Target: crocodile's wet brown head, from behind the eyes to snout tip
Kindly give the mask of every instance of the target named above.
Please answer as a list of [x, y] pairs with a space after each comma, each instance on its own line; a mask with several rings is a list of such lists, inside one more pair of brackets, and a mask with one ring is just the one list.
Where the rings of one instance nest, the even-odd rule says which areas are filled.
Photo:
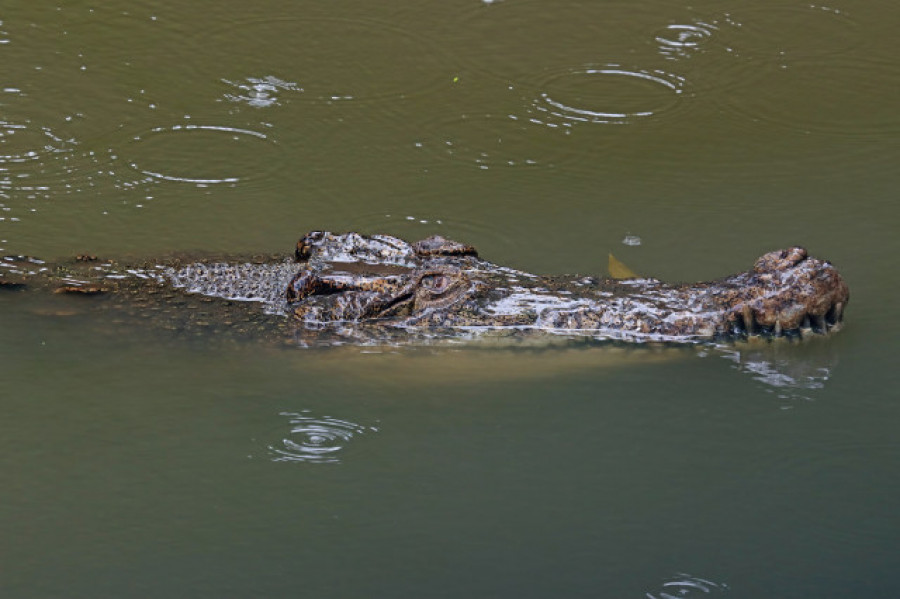
[[655, 279], [538, 277], [478, 258], [443, 237], [313, 232], [297, 244], [301, 270], [289, 312], [307, 324], [516, 328], [660, 339], [799, 337], [836, 330], [849, 292], [834, 267], [793, 247], [746, 272], [671, 285]]

